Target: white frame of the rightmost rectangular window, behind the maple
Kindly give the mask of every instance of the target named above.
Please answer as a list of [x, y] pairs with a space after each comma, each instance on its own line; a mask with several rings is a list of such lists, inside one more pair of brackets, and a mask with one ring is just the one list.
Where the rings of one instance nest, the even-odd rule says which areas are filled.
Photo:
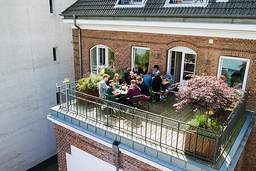
[[246, 61], [245, 75], [243, 76], [243, 86], [242, 86], [242, 90], [245, 90], [247, 76], [248, 76], [248, 72], [249, 72], [249, 66], [250, 66], [250, 59], [245, 59], [242, 57], [220, 56], [220, 59], [218, 60], [218, 72], [217, 72], [218, 78], [220, 78], [220, 76], [221, 76], [221, 70], [222, 70], [222, 65], [223, 65], [224, 59]]

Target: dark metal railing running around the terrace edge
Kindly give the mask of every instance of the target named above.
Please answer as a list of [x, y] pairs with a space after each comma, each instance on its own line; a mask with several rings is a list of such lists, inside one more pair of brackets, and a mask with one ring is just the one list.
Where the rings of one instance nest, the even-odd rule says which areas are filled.
[[[152, 112], [80, 93], [77, 91], [76, 84], [77, 82], [71, 82], [57, 86], [61, 109], [75, 112], [77, 115], [131, 136], [172, 148], [176, 152], [185, 152], [208, 161], [215, 161], [220, 155], [238, 123], [237, 119], [241, 118], [246, 104], [246, 101], [241, 103], [230, 114], [228, 122], [224, 123], [221, 131], [214, 132]], [[187, 130], [188, 127], [195, 131]], [[204, 135], [201, 135], [202, 132]]]

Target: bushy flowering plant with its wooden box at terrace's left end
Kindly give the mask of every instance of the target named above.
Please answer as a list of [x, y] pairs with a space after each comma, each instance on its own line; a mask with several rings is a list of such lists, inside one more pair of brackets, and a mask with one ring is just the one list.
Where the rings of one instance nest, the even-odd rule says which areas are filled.
[[[101, 80], [102, 77], [98, 74], [90, 74], [87, 78], [81, 78], [77, 84], [77, 91], [98, 97], [98, 85]], [[85, 98], [85, 95], [77, 94], [77, 97]], [[88, 100], [92, 101], [93, 99], [89, 98]], [[78, 102], [82, 103], [80, 100]]]

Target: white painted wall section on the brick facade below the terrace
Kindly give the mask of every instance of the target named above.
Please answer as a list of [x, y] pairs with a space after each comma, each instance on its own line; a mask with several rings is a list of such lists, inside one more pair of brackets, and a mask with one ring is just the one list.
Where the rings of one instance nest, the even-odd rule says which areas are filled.
[[[66, 153], [68, 171], [114, 171], [117, 168], [106, 161], [98, 159], [89, 153], [71, 145], [71, 155]], [[122, 169], [119, 169], [123, 171]]]

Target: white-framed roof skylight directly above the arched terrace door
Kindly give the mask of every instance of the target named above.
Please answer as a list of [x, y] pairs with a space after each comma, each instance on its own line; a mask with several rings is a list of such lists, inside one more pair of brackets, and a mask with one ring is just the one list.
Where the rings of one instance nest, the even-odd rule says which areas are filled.
[[164, 7], [183, 7], [183, 6], [199, 6], [205, 7], [208, 0], [167, 0]]

